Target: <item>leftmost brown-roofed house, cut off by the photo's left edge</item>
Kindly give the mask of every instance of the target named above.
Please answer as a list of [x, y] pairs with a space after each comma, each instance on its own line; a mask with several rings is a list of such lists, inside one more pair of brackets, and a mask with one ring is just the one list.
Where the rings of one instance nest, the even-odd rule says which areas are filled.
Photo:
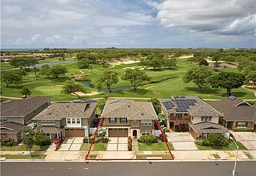
[[11, 138], [21, 141], [21, 130], [31, 122], [38, 113], [50, 105], [50, 97], [29, 97], [10, 99], [1, 102], [0, 133], [1, 139]]

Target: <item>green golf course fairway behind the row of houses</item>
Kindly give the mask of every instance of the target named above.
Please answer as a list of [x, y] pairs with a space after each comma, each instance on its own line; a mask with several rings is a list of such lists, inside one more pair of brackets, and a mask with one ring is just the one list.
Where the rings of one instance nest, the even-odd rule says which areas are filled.
[[[66, 60], [72, 60], [72, 57], [66, 57]], [[46, 62], [58, 62], [58, 58], [47, 58], [40, 61], [40, 63]], [[225, 89], [212, 89], [206, 88], [205, 90], [199, 90], [194, 83], [184, 83], [183, 75], [186, 70], [190, 69], [194, 64], [191, 64], [187, 59], [180, 58], [177, 62], [178, 68], [176, 70], [145, 70], [152, 81], [158, 83], [147, 83], [144, 86], [138, 87], [138, 90], [118, 90], [112, 93], [102, 92], [91, 87], [86, 87], [86, 93], [90, 93], [91, 90], [99, 91], [101, 94], [91, 95], [83, 98], [103, 98], [105, 95], [108, 97], [130, 97], [130, 98], [168, 98], [174, 95], [194, 95], [200, 98], [207, 99], [221, 99], [226, 97]], [[120, 86], [130, 86], [130, 82], [122, 80], [122, 74], [128, 68], [134, 68], [138, 66], [138, 63], [133, 64], [122, 64], [117, 66], [103, 67], [102, 65], [94, 65], [92, 73], [90, 70], [78, 69], [77, 63], [64, 63], [62, 66], [66, 66], [69, 72], [58, 79], [46, 78], [40, 76], [38, 80], [35, 80], [34, 73], [27, 74], [22, 81], [22, 85], [11, 85], [9, 88], [6, 87], [6, 82], [1, 79], [1, 90], [2, 96], [7, 97], [18, 97], [21, 98], [20, 90], [22, 86], [30, 88], [32, 95], [48, 95], [51, 97], [53, 102], [66, 101], [77, 98], [71, 94], [64, 94], [62, 87], [64, 82], [75, 75], [81, 75], [82, 80], [88, 80], [96, 85], [97, 79], [102, 75], [105, 70], [113, 70], [118, 73], [119, 82], [113, 86], [113, 88]], [[1, 72], [13, 69], [9, 63], [1, 64]], [[237, 69], [227, 69], [226, 71], [238, 71]], [[239, 98], [254, 99], [254, 93], [250, 90], [243, 88], [234, 89], [231, 94]]]

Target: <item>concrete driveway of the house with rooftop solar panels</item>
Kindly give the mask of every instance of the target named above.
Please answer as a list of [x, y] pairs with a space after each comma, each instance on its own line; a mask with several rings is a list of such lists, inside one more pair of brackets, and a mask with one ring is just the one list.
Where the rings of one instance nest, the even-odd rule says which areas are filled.
[[166, 133], [168, 142], [174, 146], [174, 150], [198, 150], [194, 144], [194, 138], [189, 132]]

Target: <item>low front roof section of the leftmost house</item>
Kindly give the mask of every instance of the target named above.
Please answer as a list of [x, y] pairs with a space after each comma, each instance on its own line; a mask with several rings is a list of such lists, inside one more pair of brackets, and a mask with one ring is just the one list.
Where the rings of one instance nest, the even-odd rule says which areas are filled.
[[18, 134], [25, 127], [15, 122], [4, 122], [0, 125], [0, 134]]

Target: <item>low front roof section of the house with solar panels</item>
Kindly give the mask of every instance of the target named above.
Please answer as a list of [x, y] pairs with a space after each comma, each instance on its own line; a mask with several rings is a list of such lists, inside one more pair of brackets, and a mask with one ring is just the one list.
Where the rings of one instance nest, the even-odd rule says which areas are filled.
[[213, 122], [199, 122], [195, 124], [189, 122], [189, 125], [196, 133], [225, 133], [228, 131], [224, 126]]

